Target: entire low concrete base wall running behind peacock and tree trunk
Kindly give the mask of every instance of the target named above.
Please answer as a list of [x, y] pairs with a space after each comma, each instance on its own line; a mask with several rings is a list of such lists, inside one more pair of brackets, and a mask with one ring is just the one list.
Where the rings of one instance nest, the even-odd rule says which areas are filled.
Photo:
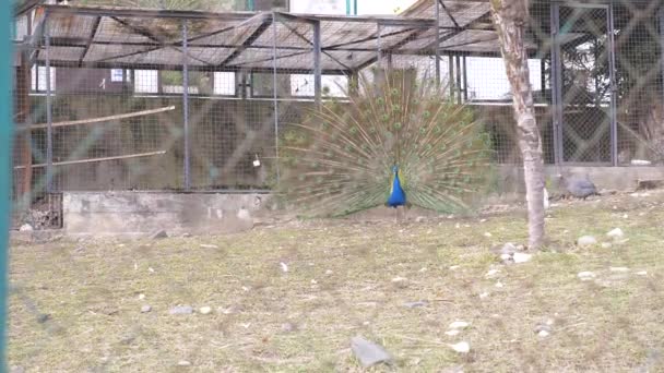
[[[602, 190], [633, 191], [639, 180], [664, 180], [664, 167], [546, 167], [550, 192], [557, 191], [558, 173], [588, 175]], [[523, 168], [501, 166], [497, 191], [486, 204], [522, 201]], [[66, 192], [63, 224], [68, 234], [146, 236], [163, 229], [168, 233], [227, 233], [250, 229], [249, 216], [268, 213], [270, 195], [247, 193], [173, 192]], [[244, 210], [242, 214], [238, 213]], [[393, 217], [394, 212], [378, 208], [371, 214]], [[427, 215], [414, 212], [411, 215]], [[368, 215], [367, 215], [368, 214]], [[436, 215], [436, 214], [434, 214]]]

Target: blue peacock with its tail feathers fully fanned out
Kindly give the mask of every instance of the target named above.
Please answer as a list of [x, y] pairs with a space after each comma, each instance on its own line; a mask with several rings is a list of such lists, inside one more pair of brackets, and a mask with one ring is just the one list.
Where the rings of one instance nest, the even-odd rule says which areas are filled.
[[349, 80], [280, 136], [278, 194], [309, 216], [381, 205], [469, 210], [490, 171], [490, 142], [467, 105], [415, 69]]

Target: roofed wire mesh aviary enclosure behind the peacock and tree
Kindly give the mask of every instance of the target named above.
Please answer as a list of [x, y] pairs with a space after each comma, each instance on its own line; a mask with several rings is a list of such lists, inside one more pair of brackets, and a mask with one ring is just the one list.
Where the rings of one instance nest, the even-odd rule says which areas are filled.
[[[636, 3], [532, 2], [546, 163], [663, 159], [664, 8]], [[280, 130], [343, 105], [348, 81], [376, 68], [440, 81], [489, 131], [493, 160], [520, 160], [487, 1], [422, 0], [399, 16], [28, 1], [15, 21], [16, 225], [31, 206], [57, 210], [62, 191], [266, 191]]]

